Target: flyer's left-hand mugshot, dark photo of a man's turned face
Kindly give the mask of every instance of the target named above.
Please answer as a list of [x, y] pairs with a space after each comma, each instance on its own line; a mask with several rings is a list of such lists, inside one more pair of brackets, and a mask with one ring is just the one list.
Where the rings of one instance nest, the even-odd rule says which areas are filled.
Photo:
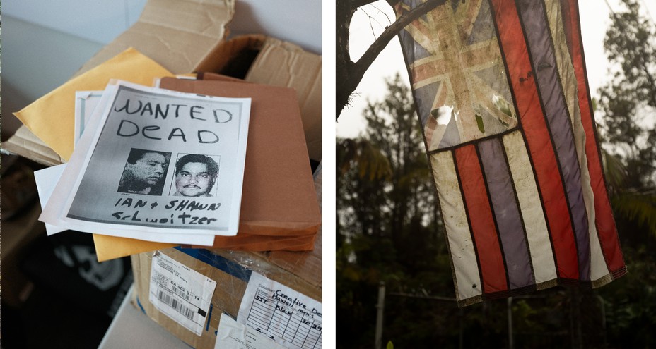
[[130, 149], [118, 192], [142, 195], [162, 195], [170, 152]]

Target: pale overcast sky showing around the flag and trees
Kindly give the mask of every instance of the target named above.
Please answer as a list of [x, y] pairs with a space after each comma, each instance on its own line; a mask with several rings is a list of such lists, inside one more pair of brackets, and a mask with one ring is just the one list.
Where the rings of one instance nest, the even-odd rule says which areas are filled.
[[[656, 16], [656, 0], [638, 0], [638, 3], [647, 7], [648, 12], [645, 12], [645, 15], [650, 18]], [[606, 0], [585, 0], [585, 4], [580, 0], [579, 4], [587, 78], [590, 83], [590, 93], [595, 97], [597, 90], [607, 79], [609, 63], [604, 53], [603, 42], [606, 28], [610, 23], [610, 12]], [[619, 0], [608, 0], [608, 4], [613, 11], [621, 10]], [[394, 20], [392, 8], [383, 0], [358, 9], [351, 22], [351, 59], [356, 61], [392, 20]], [[351, 107], [341, 112], [336, 124], [338, 137], [356, 137], [361, 133], [365, 127], [361, 113], [367, 100], [382, 99], [386, 92], [385, 78], [392, 77], [397, 72], [409, 84], [399, 39], [395, 37], [365, 73], [356, 89], [357, 95], [353, 98]]]

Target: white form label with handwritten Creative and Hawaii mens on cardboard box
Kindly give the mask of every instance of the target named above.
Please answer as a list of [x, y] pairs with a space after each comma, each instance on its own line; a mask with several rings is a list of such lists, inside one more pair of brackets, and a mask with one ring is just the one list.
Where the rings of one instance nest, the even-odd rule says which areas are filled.
[[321, 348], [321, 303], [253, 273], [237, 322], [288, 348]]

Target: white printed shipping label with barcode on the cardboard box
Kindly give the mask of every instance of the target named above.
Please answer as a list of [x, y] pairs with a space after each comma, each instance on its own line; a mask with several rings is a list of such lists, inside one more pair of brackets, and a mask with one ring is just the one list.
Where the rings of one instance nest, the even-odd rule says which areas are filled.
[[216, 281], [156, 251], [148, 300], [186, 329], [201, 335]]

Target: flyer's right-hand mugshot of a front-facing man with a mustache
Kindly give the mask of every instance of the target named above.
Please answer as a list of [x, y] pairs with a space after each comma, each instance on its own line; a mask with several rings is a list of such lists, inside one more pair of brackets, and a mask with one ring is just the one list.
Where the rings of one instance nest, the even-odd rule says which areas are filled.
[[204, 154], [180, 154], [175, 162], [170, 195], [215, 196], [220, 158]]

